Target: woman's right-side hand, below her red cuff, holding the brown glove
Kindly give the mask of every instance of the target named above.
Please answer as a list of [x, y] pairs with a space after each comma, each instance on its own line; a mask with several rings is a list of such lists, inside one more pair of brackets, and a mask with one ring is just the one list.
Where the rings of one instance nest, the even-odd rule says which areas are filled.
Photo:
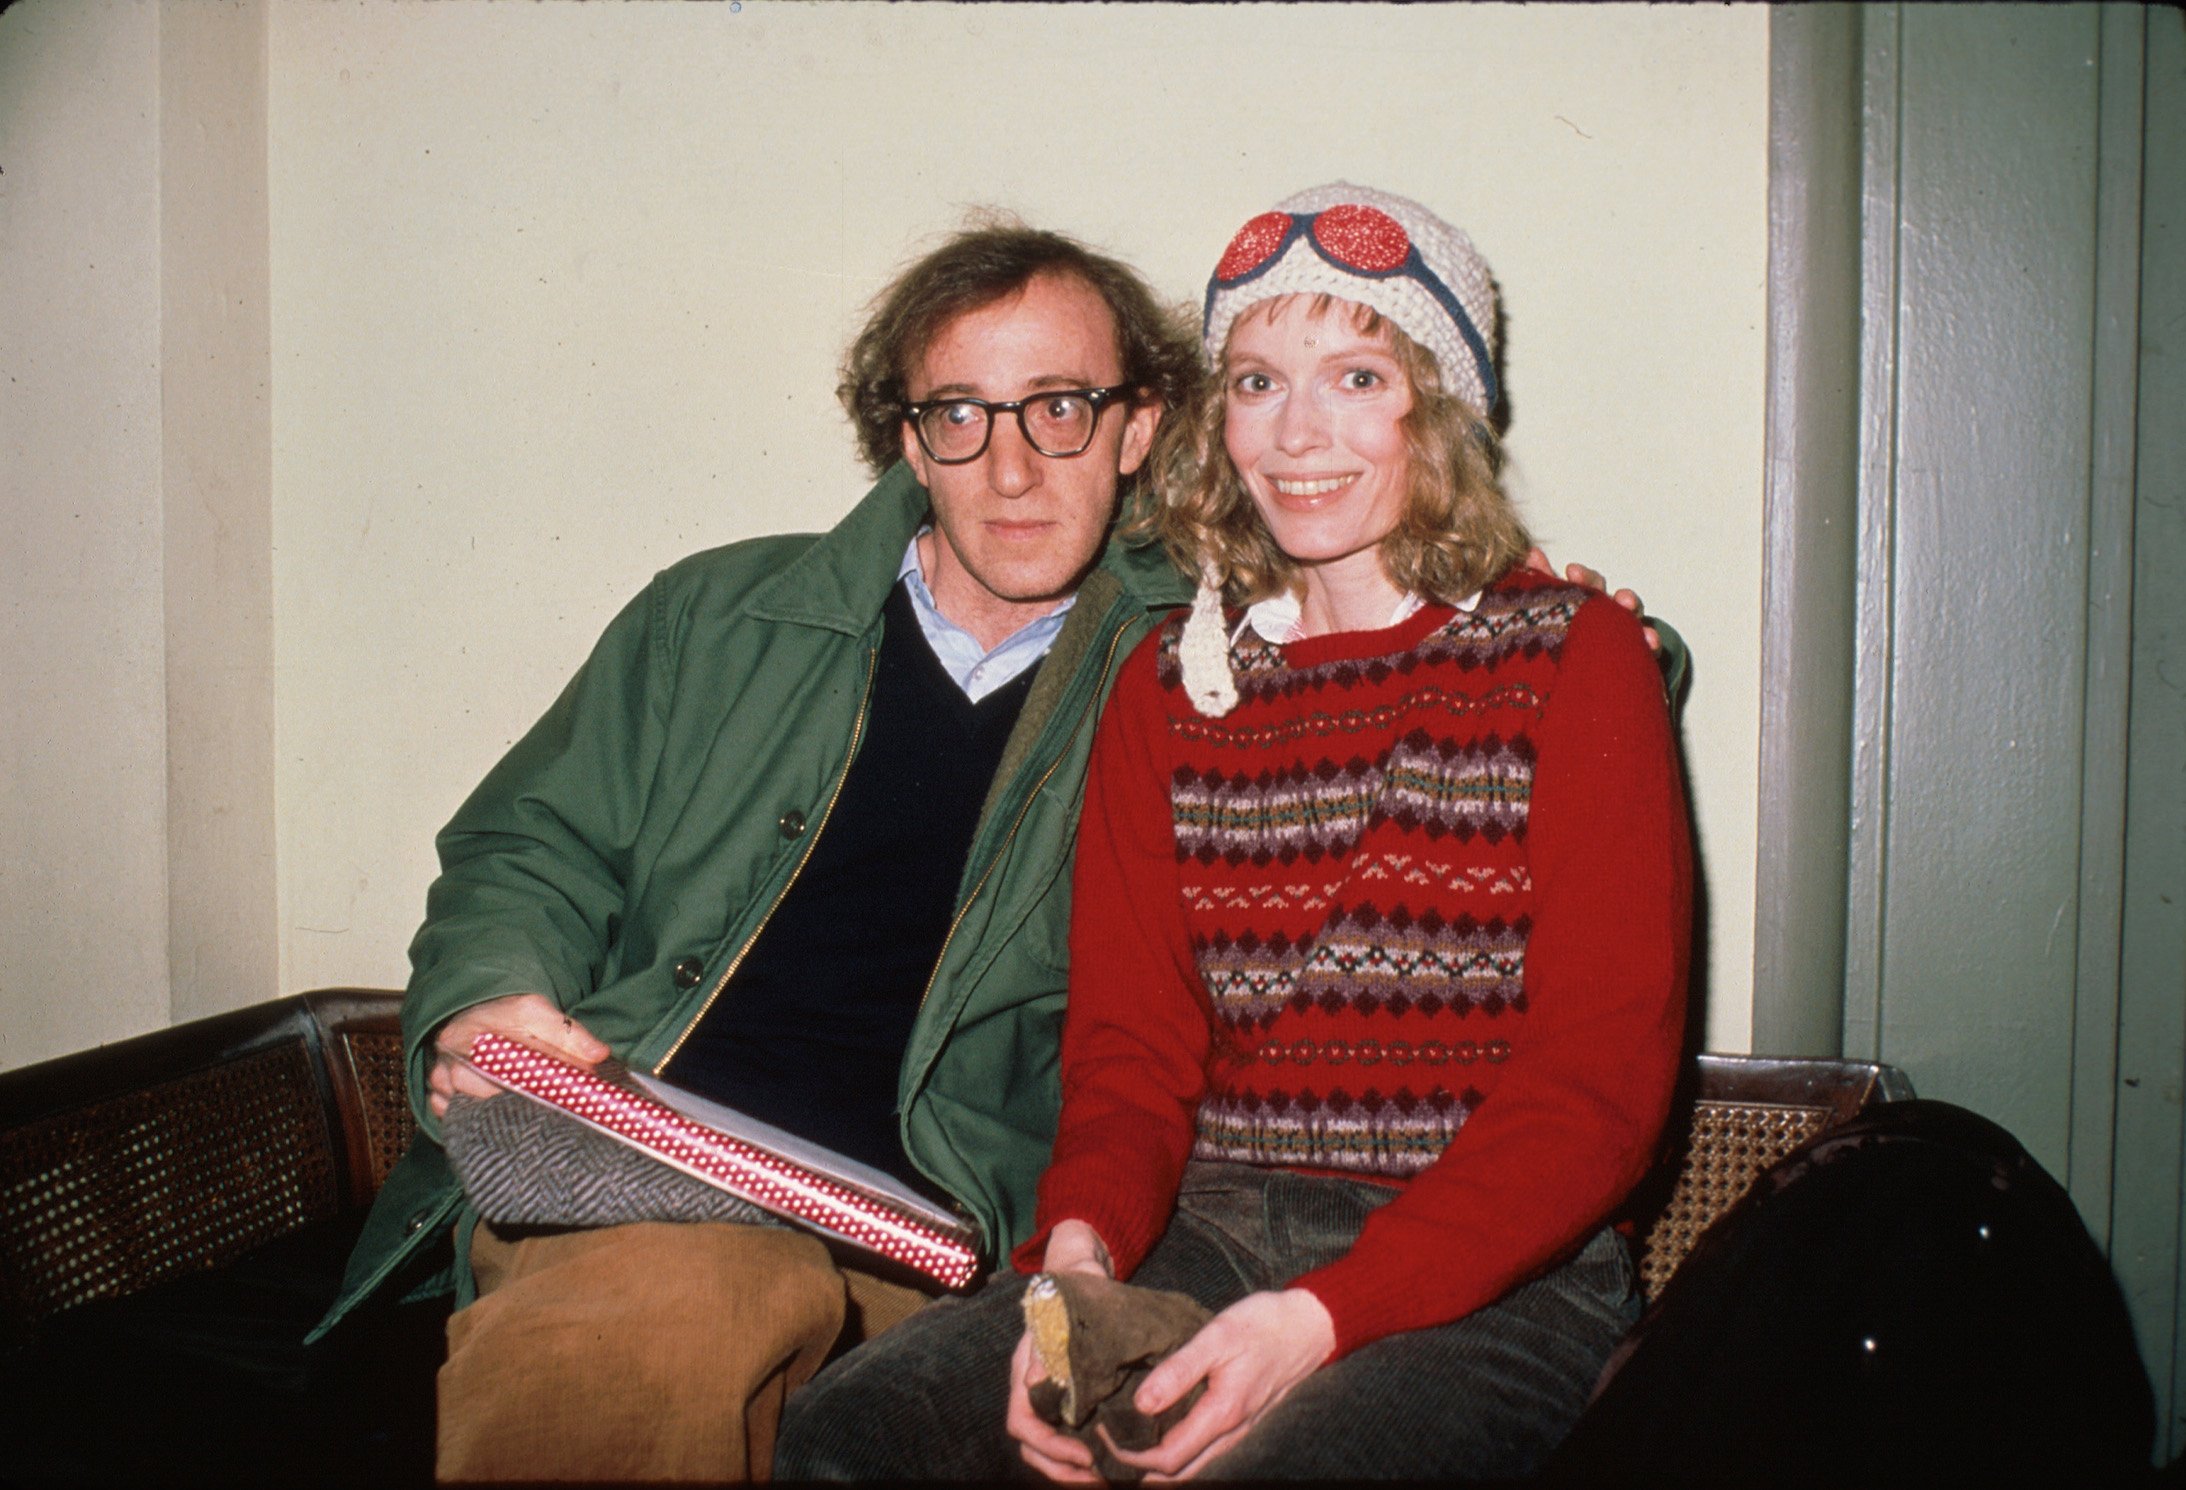
[[1318, 1298], [1305, 1289], [1248, 1293], [1139, 1383], [1139, 1411], [1159, 1414], [1204, 1376], [1207, 1392], [1183, 1422], [1143, 1453], [1110, 1448], [1150, 1481], [1191, 1479], [1333, 1352], [1336, 1322]]

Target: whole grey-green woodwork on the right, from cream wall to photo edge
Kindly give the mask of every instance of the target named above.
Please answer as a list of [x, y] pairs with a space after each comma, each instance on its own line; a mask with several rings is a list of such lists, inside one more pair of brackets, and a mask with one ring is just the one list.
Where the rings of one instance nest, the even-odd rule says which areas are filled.
[[1904, 1066], [2109, 1247], [2186, 1451], [2179, 13], [1771, 28], [1755, 1046]]

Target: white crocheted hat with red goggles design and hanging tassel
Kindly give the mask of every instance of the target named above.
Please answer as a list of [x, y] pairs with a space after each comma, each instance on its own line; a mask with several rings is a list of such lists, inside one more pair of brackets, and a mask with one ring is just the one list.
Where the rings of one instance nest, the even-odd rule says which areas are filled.
[[[1495, 280], [1473, 240], [1417, 201], [1331, 181], [1239, 227], [1207, 280], [1207, 360], [1220, 367], [1231, 326], [1259, 301], [1316, 293], [1373, 306], [1434, 356], [1449, 393], [1482, 417], [1495, 409]], [[1211, 570], [1200, 575], [1178, 664], [1198, 712], [1237, 706]]]

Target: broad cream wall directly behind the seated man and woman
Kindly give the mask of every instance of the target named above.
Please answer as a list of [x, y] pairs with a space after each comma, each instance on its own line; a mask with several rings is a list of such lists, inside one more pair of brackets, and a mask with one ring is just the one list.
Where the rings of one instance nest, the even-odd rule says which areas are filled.
[[[1196, 297], [1351, 177], [1471, 229], [1528, 518], [1694, 645], [1709, 1042], [1744, 1044], [1764, 11], [275, 0], [265, 98], [282, 992], [400, 983], [431, 832], [654, 568], [855, 500], [835, 358], [918, 243], [999, 203]], [[157, 760], [157, 714], [129, 738]]]

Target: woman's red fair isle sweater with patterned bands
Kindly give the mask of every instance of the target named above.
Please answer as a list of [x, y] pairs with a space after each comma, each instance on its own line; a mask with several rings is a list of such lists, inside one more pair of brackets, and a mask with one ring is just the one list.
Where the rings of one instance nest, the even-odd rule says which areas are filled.
[[1653, 1160], [1692, 848], [1661, 677], [1611, 601], [1519, 570], [1473, 612], [1124, 664], [1078, 839], [1060, 1219], [1128, 1278], [1187, 1158], [1403, 1186], [1294, 1280], [1336, 1352], [1546, 1272]]

